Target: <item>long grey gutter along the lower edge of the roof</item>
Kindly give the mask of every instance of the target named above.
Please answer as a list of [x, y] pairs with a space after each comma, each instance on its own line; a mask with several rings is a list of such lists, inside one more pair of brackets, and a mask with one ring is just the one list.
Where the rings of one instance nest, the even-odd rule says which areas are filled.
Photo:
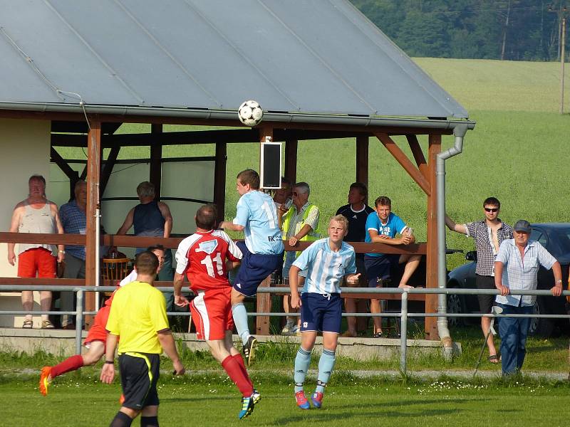
[[[85, 111], [83, 110], [85, 107]], [[235, 110], [205, 110], [192, 108], [171, 107], [136, 107], [118, 105], [88, 105], [51, 102], [0, 102], [0, 110], [21, 110], [36, 112], [71, 112], [83, 115], [119, 115], [119, 116], [150, 116], [150, 117], [180, 117], [197, 120], [236, 120]], [[321, 125], [354, 125], [354, 126], [385, 126], [385, 127], [423, 127], [426, 129], [452, 130], [457, 126], [473, 129], [475, 122], [470, 120], [430, 120], [394, 117], [371, 117], [351, 115], [309, 114], [302, 112], [264, 112], [267, 122], [313, 123]]]

